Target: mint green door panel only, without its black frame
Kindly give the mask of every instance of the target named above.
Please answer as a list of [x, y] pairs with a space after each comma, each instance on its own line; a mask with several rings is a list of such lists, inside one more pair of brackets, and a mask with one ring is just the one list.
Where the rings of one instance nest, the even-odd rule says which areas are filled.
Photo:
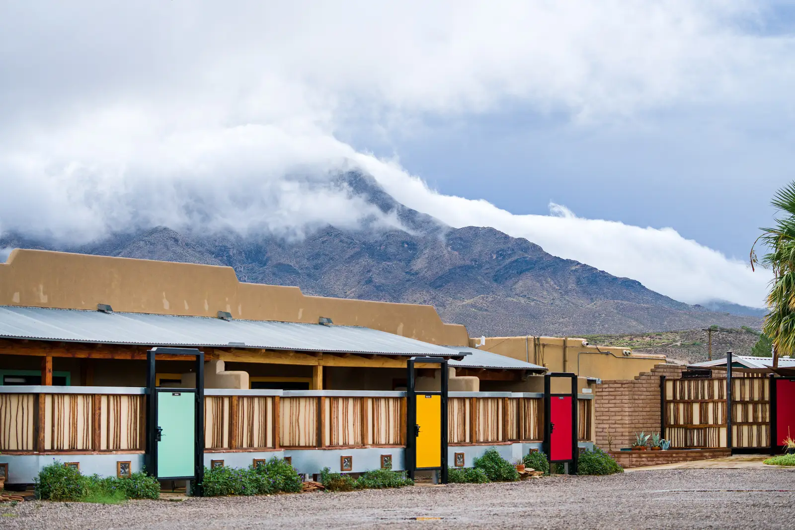
[[196, 394], [165, 391], [157, 393], [157, 477], [192, 477], [196, 440]]

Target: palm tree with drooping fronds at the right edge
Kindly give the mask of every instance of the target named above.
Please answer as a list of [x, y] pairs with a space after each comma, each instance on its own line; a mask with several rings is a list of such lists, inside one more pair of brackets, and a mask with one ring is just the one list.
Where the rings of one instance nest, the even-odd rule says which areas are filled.
[[[750, 261], [752, 268], [761, 261], [773, 269], [767, 294], [770, 313], [765, 316], [762, 331], [772, 339], [773, 367], [778, 368], [781, 352], [795, 352], [795, 182], [778, 190], [770, 203], [784, 215], [775, 219], [774, 227], [762, 228], [762, 235], [751, 247]], [[759, 241], [769, 250], [761, 260], [754, 253]]]

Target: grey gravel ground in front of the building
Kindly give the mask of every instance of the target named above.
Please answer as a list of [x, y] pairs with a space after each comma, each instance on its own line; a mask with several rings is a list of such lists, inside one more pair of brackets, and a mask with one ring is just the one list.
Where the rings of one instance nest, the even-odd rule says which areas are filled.
[[115, 506], [6, 503], [0, 528], [795, 528], [793, 501], [795, 470], [661, 470]]

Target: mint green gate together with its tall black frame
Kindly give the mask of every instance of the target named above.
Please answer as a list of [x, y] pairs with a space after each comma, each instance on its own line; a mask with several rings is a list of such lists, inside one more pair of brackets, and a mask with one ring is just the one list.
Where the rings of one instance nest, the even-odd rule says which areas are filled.
[[[196, 358], [196, 389], [156, 387], [157, 355]], [[201, 497], [204, 478], [204, 354], [193, 348], [153, 348], [146, 352], [145, 466], [160, 480], [195, 482]]]

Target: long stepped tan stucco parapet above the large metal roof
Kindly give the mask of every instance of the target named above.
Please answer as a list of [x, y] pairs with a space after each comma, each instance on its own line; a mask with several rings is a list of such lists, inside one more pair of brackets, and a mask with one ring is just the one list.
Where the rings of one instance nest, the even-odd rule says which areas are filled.
[[466, 346], [467, 330], [429, 305], [304, 296], [300, 288], [245, 284], [231, 267], [45, 250], [13, 250], [0, 264], [0, 305], [363, 326], [432, 344]]

